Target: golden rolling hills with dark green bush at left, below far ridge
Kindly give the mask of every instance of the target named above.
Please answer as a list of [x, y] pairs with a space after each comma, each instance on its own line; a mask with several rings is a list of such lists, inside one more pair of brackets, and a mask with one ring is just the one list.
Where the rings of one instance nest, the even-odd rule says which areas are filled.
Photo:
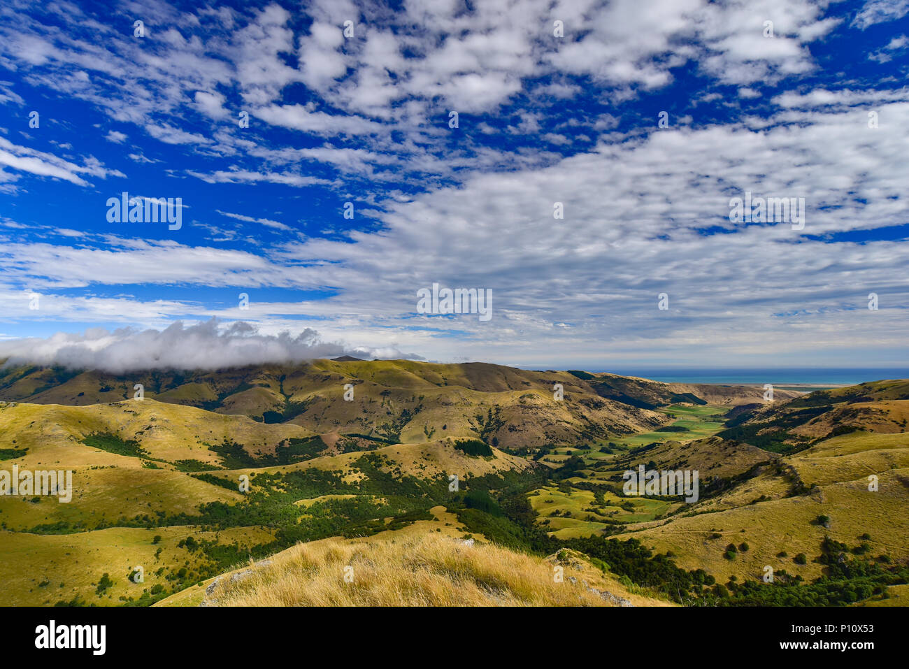
[[[16, 464], [74, 473], [69, 504], [0, 496], [0, 577], [19, 584], [3, 604], [151, 604], [297, 541], [440, 529], [429, 510], [458, 504], [448, 474], [464, 486], [544, 469], [498, 449], [465, 454], [451, 440], [368, 442], [372, 450], [343, 453], [315, 437], [309, 448], [313, 437], [295, 424], [148, 399], [2, 404], [0, 430], [12, 452], [5, 471]], [[241, 474], [252, 480], [247, 493]], [[446, 518], [446, 529], [460, 527]], [[137, 565], [142, 584], [129, 578]]]

